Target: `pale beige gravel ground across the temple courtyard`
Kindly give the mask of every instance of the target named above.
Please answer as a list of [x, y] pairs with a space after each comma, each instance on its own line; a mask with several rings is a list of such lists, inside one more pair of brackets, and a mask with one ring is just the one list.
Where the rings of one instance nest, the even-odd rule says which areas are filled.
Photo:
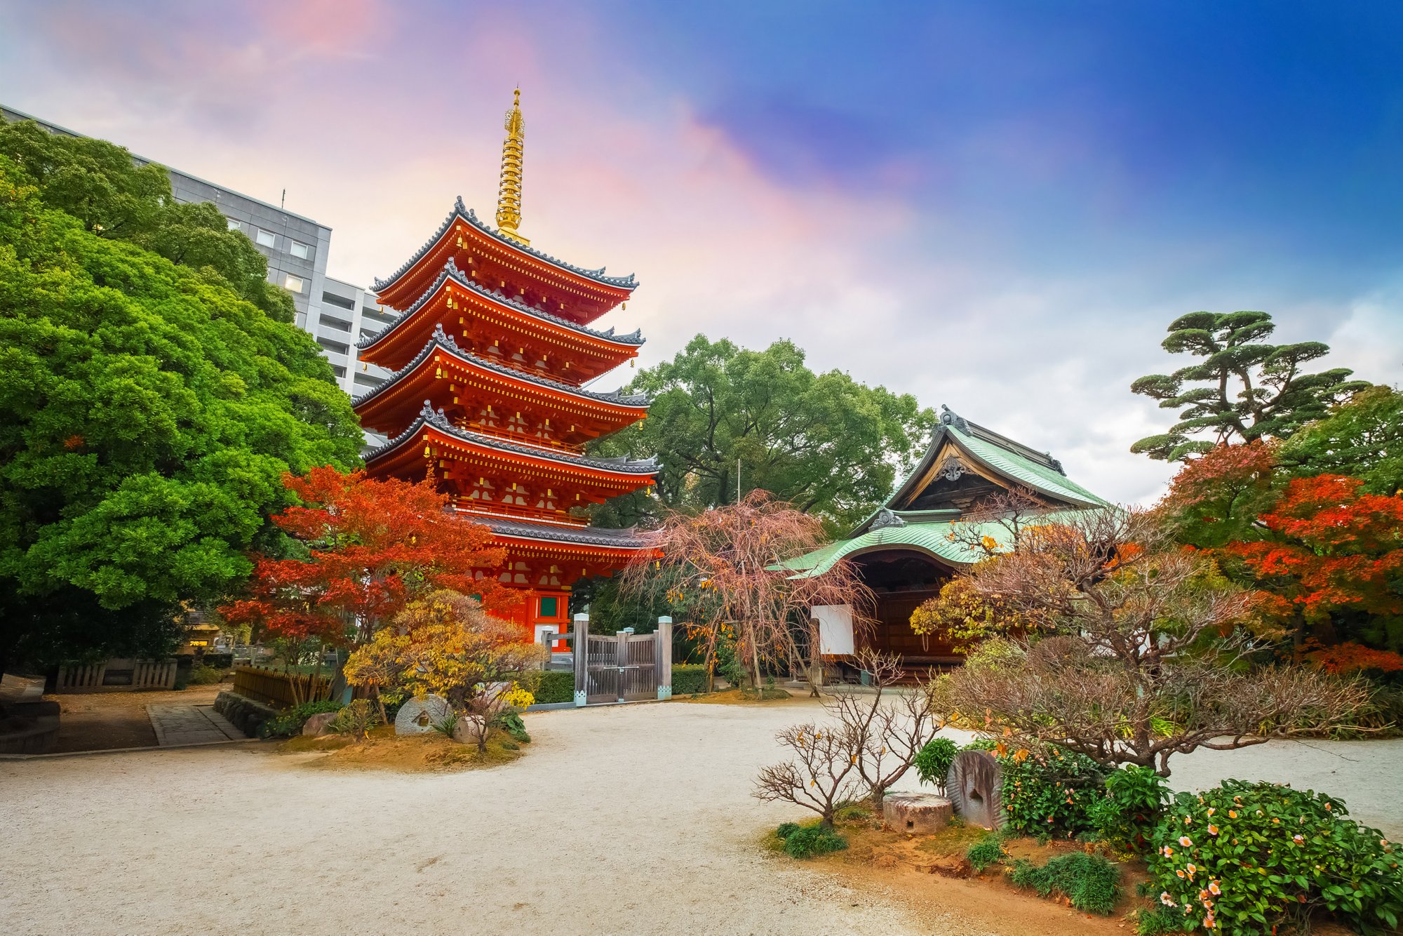
[[[535, 713], [528, 756], [450, 775], [311, 769], [264, 745], [0, 761], [21, 859], [0, 932], [969, 933], [755, 845], [800, 818], [751, 798], [749, 779], [808, 709]], [[1229, 762], [1403, 827], [1400, 741], [1194, 755], [1176, 780], [1212, 783]]]

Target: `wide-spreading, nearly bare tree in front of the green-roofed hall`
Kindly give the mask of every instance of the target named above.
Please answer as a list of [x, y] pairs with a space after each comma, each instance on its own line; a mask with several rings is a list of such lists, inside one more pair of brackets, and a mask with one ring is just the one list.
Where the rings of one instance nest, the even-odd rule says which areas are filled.
[[1169, 776], [1169, 758], [1326, 731], [1362, 706], [1358, 682], [1253, 664], [1250, 594], [1142, 514], [1106, 508], [1030, 529], [974, 566], [979, 595], [1047, 620], [998, 665], [941, 681], [936, 710], [1028, 745]]

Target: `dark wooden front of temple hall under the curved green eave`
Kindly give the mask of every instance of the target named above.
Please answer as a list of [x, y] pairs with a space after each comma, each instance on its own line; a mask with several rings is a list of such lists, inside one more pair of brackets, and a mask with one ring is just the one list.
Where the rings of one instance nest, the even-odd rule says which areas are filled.
[[866, 644], [874, 650], [899, 654], [906, 664], [951, 664], [961, 657], [947, 640], [922, 637], [911, 629], [911, 612], [927, 598], [940, 594], [950, 571], [925, 553], [882, 550], [853, 560], [863, 581], [877, 595], [877, 623]]

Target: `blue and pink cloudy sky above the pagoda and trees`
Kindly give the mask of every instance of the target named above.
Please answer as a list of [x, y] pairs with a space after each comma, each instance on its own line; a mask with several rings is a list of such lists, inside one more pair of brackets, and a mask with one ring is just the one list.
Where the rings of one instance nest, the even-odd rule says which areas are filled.
[[492, 216], [516, 86], [521, 230], [638, 275], [640, 366], [790, 338], [1139, 504], [1180, 314], [1403, 377], [1403, 4], [0, 0], [0, 101], [286, 189], [359, 285]]

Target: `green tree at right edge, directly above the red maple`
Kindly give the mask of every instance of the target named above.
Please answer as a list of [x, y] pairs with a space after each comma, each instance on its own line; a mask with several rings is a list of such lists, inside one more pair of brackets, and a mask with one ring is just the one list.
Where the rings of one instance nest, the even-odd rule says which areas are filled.
[[1348, 474], [1362, 480], [1368, 494], [1403, 493], [1403, 393], [1385, 386], [1360, 390], [1287, 439], [1277, 462], [1296, 477]]

